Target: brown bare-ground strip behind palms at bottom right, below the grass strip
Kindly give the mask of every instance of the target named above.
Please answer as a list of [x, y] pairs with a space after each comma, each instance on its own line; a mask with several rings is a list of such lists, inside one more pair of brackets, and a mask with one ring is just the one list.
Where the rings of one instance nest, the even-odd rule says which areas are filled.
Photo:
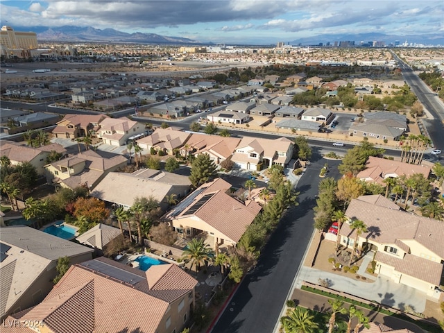
[[[329, 298], [318, 295], [317, 293], [311, 293], [309, 291], [295, 289], [293, 291], [291, 299], [296, 301], [296, 305], [305, 307], [307, 309], [321, 311], [321, 312], [328, 312], [331, 309], [330, 304], [328, 303]], [[345, 308], [348, 309], [349, 306], [350, 305], [348, 303], [344, 303]], [[358, 307], [358, 306], [356, 307], [357, 309], [364, 311], [364, 314], [368, 316], [368, 318], [370, 318], [370, 321], [372, 322], [387, 325], [388, 327], [391, 327], [395, 330], [401, 330], [407, 328], [411, 330], [411, 332], [424, 333], [424, 331], [420, 327], [408, 321], [403, 321], [402, 319], [395, 318], [393, 316], [386, 316], [384, 314], [379, 314], [373, 310], [366, 309], [364, 307]], [[355, 327], [356, 324], [357, 324], [357, 319], [355, 318], [352, 320], [352, 329]]]

